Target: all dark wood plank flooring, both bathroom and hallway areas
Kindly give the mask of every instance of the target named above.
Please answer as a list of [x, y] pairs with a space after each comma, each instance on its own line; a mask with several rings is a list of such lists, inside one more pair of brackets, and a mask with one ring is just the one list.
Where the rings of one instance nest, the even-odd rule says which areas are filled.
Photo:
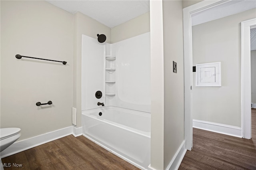
[[[6, 170], [138, 170], [84, 136], [73, 135], [2, 159]], [[14, 167], [13, 164], [22, 164]], [[193, 129], [193, 149], [179, 170], [256, 170], [256, 109], [252, 109], [252, 139]]]

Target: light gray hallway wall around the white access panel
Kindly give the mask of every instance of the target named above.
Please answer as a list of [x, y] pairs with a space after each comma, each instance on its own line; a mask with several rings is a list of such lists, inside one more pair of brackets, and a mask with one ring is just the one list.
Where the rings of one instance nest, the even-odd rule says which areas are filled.
[[196, 87], [193, 119], [241, 127], [241, 26], [255, 9], [192, 27], [193, 65], [221, 62], [222, 87]]

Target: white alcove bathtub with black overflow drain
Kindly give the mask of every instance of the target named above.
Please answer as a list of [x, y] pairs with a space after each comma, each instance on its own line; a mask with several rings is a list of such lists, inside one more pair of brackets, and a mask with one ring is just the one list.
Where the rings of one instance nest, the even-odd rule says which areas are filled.
[[141, 169], [150, 164], [150, 120], [150, 113], [119, 107], [82, 111], [84, 136]]

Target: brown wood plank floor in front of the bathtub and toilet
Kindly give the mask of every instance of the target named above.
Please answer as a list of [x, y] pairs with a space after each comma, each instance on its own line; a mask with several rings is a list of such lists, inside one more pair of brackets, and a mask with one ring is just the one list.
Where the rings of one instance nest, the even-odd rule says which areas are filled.
[[[84, 136], [66, 136], [2, 159], [5, 170], [139, 170]], [[22, 167], [14, 167], [22, 164]]]

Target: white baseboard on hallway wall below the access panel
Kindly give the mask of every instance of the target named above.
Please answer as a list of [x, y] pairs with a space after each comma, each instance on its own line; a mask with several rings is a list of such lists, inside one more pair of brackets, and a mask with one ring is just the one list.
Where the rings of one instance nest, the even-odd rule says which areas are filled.
[[217, 132], [242, 138], [242, 128], [240, 127], [193, 119], [193, 128], [199, 128], [202, 130], [208, 130], [211, 132]]

